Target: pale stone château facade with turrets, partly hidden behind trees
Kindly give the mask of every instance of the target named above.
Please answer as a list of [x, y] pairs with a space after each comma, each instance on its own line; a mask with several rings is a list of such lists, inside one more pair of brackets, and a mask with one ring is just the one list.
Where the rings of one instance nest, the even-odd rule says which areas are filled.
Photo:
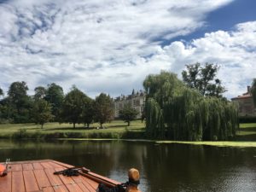
[[134, 93], [132, 91], [132, 94], [129, 96], [118, 96], [114, 99], [114, 118], [119, 118], [119, 111], [122, 110], [125, 105], [131, 106], [131, 108], [134, 108], [137, 111], [137, 119], [140, 119], [143, 114], [144, 110], [144, 102], [145, 102], [145, 94], [142, 90], [137, 91], [137, 93]]

